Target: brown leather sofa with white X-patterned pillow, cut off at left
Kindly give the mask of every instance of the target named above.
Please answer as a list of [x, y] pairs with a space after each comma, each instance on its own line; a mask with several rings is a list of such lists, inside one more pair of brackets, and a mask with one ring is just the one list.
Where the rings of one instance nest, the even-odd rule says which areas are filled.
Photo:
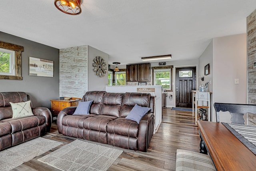
[[12, 118], [10, 102], [19, 103], [32, 100], [24, 92], [0, 93], [0, 150], [23, 143], [50, 131], [52, 115], [46, 107], [32, 108], [34, 115]]

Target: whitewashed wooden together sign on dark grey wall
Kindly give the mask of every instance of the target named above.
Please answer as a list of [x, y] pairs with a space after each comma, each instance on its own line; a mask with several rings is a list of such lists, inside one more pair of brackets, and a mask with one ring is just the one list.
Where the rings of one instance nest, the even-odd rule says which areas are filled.
[[53, 77], [53, 61], [29, 57], [29, 75]]

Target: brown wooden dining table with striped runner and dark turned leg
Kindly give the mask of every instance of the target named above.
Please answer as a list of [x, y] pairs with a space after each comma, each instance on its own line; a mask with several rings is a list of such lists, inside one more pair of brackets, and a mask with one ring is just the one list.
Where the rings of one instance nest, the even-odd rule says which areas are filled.
[[256, 155], [222, 123], [197, 121], [197, 124], [202, 139], [200, 151], [209, 153], [218, 171], [256, 170]]

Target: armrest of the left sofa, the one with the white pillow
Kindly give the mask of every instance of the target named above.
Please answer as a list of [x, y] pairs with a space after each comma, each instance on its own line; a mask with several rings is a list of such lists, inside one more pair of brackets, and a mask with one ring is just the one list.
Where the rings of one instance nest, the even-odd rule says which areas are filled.
[[45, 117], [46, 131], [50, 132], [52, 126], [52, 113], [46, 107], [33, 108], [34, 115], [42, 115]]

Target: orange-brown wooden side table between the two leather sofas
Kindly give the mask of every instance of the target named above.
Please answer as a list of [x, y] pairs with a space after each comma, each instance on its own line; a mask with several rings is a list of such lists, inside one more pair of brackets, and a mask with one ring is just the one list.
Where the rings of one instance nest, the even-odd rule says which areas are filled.
[[53, 115], [58, 115], [60, 111], [66, 107], [77, 106], [81, 98], [71, 97], [69, 100], [65, 99], [51, 99], [51, 109]]

